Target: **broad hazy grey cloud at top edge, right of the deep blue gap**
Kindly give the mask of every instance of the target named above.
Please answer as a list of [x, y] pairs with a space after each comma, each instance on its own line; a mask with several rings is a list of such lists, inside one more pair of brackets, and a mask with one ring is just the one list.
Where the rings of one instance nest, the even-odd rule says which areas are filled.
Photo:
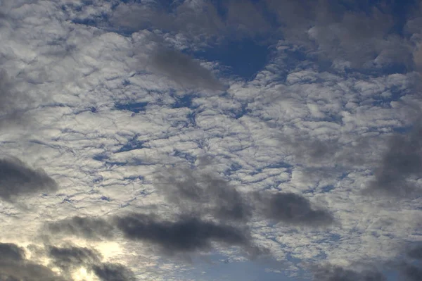
[[388, 4], [359, 1], [267, 0], [290, 42], [316, 49], [321, 58], [348, 61], [352, 67], [403, 63], [411, 66], [409, 42], [392, 34], [394, 12]]

